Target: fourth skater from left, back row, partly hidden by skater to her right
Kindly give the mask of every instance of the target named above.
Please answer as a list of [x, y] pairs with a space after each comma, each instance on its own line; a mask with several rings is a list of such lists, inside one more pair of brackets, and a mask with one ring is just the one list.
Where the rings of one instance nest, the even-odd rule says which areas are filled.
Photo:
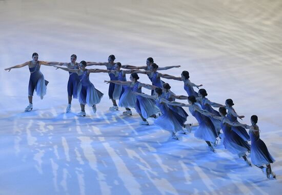
[[[108, 57], [108, 62], [104, 62], [104, 63], [87, 62], [87, 66], [93, 66], [93, 65], [95, 65], [95, 66], [106, 66], [107, 70], [115, 70], [114, 60], [115, 60], [115, 56], [112, 54]], [[117, 81], [117, 76], [115, 76], [114, 73], [110, 72], [109, 76], [110, 76], [111, 81]], [[119, 96], [113, 96], [115, 87], [118, 87], [118, 86], [116, 86], [114, 83], [110, 83], [108, 94], [109, 94], [110, 99], [112, 100], [113, 106], [110, 107], [109, 110], [118, 110], [116, 100], [119, 99]]]

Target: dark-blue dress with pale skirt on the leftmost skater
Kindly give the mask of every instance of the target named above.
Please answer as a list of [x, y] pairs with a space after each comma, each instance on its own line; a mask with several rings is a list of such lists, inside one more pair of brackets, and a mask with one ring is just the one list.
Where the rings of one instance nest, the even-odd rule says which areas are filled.
[[[29, 65], [31, 65], [31, 61]], [[28, 96], [33, 96], [34, 89], [36, 94], [43, 99], [43, 96], [46, 95], [47, 84], [48, 81], [44, 80], [44, 75], [40, 71], [39, 62], [36, 62], [36, 65], [32, 68], [29, 68], [30, 77], [29, 77], [29, 84], [28, 84]]]

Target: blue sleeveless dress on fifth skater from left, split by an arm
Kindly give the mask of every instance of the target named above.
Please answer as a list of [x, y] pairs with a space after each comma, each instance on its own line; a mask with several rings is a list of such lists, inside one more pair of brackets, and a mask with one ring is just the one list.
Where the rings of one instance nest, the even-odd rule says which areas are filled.
[[[123, 70], [118, 73], [118, 81], [126, 81], [126, 76], [123, 76]], [[136, 96], [130, 86], [122, 85], [122, 91], [119, 95], [118, 106], [125, 108], [133, 108], [136, 105]]]

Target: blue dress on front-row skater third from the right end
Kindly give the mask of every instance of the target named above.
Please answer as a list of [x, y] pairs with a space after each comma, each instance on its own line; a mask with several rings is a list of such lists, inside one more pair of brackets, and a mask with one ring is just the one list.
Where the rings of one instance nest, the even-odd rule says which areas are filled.
[[195, 111], [194, 110], [195, 106], [197, 106], [199, 109], [201, 109], [200, 105], [197, 104], [197, 103], [194, 103], [192, 107], [189, 107], [190, 113], [196, 118], [196, 120], [199, 123], [199, 126], [196, 129], [194, 136], [197, 139], [215, 143], [216, 138], [217, 138], [217, 131], [216, 131], [212, 121], [210, 120], [210, 118], [208, 118], [208, 116], [205, 116], [205, 115], [201, 114], [200, 112]]

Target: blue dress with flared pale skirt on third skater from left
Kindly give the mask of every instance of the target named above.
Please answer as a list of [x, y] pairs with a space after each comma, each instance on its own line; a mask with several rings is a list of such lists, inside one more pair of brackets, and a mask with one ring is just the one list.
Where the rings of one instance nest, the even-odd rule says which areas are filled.
[[87, 70], [79, 77], [81, 78], [77, 90], [79, 103], [84, 105], [88, 104], [90, 107], [100, 103], [104, 94], [95, 89], [94, 85], [90, 82]]

